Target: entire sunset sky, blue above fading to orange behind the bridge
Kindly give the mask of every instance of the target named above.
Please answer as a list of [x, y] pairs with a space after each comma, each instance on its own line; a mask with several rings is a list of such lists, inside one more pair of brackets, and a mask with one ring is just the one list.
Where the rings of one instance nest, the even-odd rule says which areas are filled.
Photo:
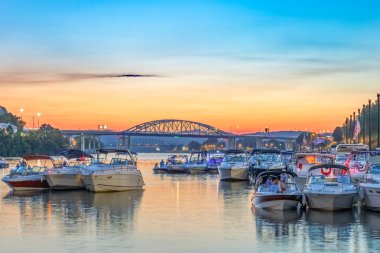
[[332, 130], [380, 92], [378, 1], [0, 0], [0, 105], [27, 127]]

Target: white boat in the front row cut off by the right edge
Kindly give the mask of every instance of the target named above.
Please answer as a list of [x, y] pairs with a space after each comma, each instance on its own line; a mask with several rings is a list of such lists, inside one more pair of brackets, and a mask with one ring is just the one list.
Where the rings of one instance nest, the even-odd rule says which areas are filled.
[[366, 166], [364, 182], [359, 184], [362, 206], [380, 211], [380, 157], [371, 157]]

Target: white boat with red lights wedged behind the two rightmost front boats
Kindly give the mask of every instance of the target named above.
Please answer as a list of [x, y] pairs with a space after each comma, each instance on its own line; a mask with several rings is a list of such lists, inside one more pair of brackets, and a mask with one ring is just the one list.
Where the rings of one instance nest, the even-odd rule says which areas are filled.
[[361, 183], [364, 181], [365, 167], [370, 157], [379, 156], [378, 151], [352, 151], [345, 161], [346, 165], [350, 169], [351, 179], [354, 183]]

